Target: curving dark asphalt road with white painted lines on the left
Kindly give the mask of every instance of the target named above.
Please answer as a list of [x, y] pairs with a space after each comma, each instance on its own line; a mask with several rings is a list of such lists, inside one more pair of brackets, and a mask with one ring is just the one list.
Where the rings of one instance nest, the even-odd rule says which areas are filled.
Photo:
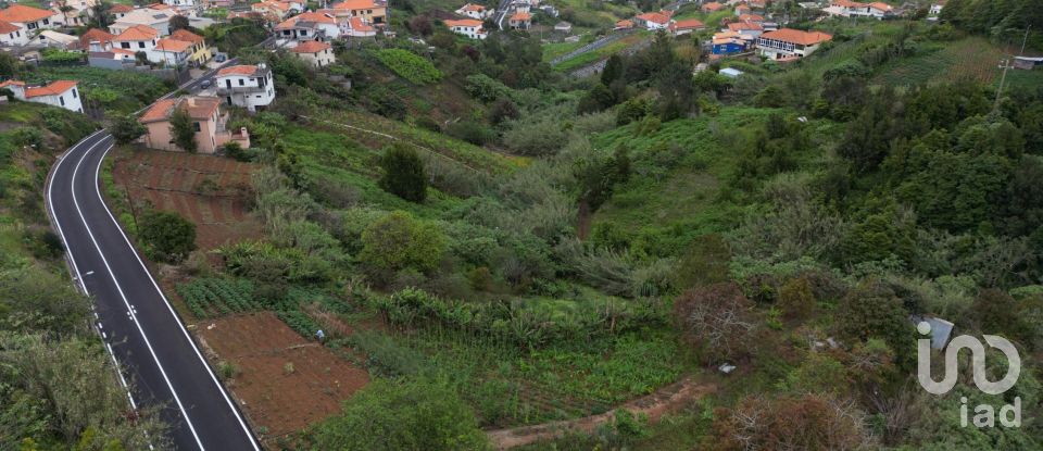
[[131, 404], [160, 406], [178, 450], [259, 450], [235, 401], [102, 200], [98, 174], [112, 146], [105, 130], [73, 146], [52, 168], [46, 197], [73, 277], [95, 298], [102, 339], [136, 388]]

